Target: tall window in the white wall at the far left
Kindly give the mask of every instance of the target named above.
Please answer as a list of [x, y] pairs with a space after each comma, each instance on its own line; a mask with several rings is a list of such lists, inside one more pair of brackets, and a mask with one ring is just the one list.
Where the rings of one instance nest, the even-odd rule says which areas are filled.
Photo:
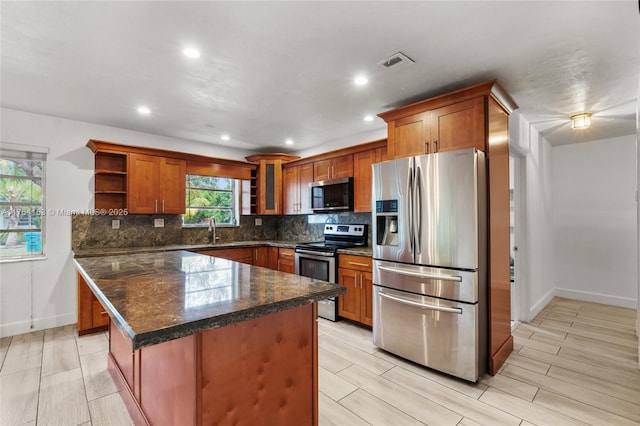
[[0, 149], [0, 261], [42, 257], [46, 154]]

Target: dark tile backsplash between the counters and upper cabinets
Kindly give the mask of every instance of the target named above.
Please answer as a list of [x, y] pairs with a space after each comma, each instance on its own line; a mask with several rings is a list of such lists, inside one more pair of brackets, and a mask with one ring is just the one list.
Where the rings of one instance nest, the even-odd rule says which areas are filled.
[[[256, 226], [255, 219], [262, 225]], [[155, 227], [155, 219], [163, 219], [164, 227]], [[119, 229], [112, 221], [119, 220]], [[370, 213], [339, 213], [283, 216], [241, 216], [240, 226], [218, 227], [219, 242], [233, 241], [318, 241], [322, 240], [325, 223], [364, 223], [371, 225]], [[146, 247], [180, 244], [207, 244], [208, 229], [182, 227], [180, 215], [76, 215], [71, 218], [73, 250]], [[371, 240], [371, 226], [369, 226]]]

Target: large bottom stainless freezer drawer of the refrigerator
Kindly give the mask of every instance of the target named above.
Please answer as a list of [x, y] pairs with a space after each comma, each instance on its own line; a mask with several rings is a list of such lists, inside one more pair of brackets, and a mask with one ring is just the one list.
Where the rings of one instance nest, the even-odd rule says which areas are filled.
[[393, 354], [476, 382], [479, 358], [477, 304], [443, 301], [373, 286], [373, 343]]

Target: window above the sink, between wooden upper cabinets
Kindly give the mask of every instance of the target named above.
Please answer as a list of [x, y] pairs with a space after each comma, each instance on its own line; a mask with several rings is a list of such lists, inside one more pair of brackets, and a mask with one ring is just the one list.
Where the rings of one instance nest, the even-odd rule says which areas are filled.
[[237, 226], [239, 214], [239, 181], [237, 179], [187, 175], [186, 212], [182, 224], [209, 226], [210, 218], [217, 226]]

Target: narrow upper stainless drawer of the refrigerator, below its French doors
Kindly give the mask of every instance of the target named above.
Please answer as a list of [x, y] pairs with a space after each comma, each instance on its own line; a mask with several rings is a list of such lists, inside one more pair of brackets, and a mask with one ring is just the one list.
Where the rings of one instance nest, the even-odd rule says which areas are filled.
[[397, 290], [433, 297], [476, 303], [479, 276], [474, 271], [458, 271], [376, 260], [373, 283]]

